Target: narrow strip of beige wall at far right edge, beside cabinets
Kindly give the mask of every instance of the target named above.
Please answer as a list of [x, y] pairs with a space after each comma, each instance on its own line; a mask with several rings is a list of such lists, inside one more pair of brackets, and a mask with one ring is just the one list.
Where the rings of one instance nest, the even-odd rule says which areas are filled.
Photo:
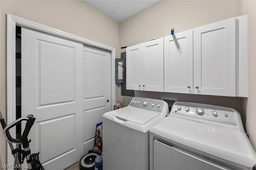
[[256, 1], [241, 1], [241, 14], [248, 15], [248, 99], [246, 129], [256, 149]]

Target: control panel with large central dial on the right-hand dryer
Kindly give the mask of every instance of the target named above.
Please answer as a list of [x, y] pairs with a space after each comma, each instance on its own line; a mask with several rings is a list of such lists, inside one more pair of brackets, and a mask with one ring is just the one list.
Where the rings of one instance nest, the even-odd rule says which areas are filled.
[[[213, 106], [207, 104], [196, 104], [188, 102], [176, 102], [172, 106], [170, 115], [190, 119], [192, 120], [199, 119], [206, 121], [212, 121], [216, 123], [224, 123], [228, 125], [237, 125], [236, 115], [240, 114], [234, 109], [221, 106]], [[179, 116], [178, 116], [179, 117]]]

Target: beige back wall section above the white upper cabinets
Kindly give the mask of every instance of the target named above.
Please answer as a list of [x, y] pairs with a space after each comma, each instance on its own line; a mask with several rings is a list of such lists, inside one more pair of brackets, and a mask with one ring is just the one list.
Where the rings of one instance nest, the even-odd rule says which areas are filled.
[[240, 16], [240, 1], [163, 0], [120, 22], [120, 47]]

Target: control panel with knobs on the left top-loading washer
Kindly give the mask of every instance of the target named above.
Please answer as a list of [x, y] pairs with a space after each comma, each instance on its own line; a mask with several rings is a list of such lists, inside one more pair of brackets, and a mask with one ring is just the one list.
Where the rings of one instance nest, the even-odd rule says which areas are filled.
[[164, 101], [150, 98], [134, 97], [132, 98], [129, 106], [161, 113], [163, 111]]

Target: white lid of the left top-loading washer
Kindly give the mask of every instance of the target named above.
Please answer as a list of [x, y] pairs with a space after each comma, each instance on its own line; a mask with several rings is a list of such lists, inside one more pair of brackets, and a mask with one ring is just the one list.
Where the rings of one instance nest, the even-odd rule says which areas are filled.
[[131, 121], [140, 125], [144, 125], [148, 121], [154, 119], [154, 117], [160, 115], [160, 113], [134, 107], [124, 107], [108, 113], [125, 121]]

